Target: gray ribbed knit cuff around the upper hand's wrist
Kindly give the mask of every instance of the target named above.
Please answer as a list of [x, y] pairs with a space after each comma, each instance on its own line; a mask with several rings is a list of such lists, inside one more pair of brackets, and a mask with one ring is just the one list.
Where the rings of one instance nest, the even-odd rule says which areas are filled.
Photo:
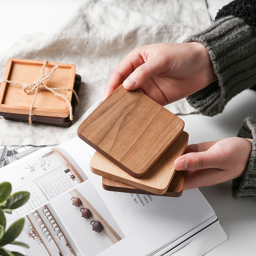
[[200, 42], [208, 50], [218, 81], [187, 97], [206, 116], [221, 113], [236, 94], [256, 81], [256, 38], [244, 20], [228, 16], [185, 42]]

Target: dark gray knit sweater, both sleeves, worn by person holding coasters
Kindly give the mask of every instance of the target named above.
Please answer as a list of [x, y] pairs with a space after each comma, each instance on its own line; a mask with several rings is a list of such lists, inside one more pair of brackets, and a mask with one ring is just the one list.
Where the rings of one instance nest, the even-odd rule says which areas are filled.
[[[218, 78], [187, 98], [200, 113], [219, 114], [238, 93], [256, 89], [256, 0], [236, 0], [224, 6], [210, 28], [186, 40], [192, 41], [207, 48]], [[233, 196], [256, 199], [255, 120], [245, 118], [237, 136], [253, 139], [253, 145], [244, 176], [233, 180]]]

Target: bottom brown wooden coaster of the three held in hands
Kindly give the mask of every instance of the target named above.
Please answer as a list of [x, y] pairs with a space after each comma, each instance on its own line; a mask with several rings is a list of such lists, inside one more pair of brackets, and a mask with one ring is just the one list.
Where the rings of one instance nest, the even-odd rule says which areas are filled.
[[[169, 196], [169, 197], [179, 197], [182, 195], [183, 186], [184, 186], [184, 174], [185, 171], [176, 171], [171, 184], [167, 191], [161, 196]], [[123, 183], [109, 180], [107, 178], [102, 178], [102, 188], [109, 191], [116, 192], [124, 192], [124, 193], [134, 193], [134, 194], [144, 194], [144, 195], [154, 195], [159, 196], [148, 191], [144, 191], [138, 188], [131, 187], [129, 185], [125, 185]]]

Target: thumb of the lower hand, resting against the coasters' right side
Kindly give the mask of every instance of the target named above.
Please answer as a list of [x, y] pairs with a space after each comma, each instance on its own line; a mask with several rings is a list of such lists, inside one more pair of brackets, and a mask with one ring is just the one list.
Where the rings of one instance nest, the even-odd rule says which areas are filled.
[[180, 170], [201, 170], [223, 168], [224, 156], [218, 151], [207, 150], [203, 152], [192, 152], [178, 157], [174, 162], [174, 168]]

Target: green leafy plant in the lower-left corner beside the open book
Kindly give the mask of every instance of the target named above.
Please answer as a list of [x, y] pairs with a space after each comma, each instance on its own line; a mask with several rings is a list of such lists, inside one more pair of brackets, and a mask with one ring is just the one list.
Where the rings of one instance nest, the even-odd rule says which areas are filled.
[[6, 228], [6, 219], [4, 214], [12, 214], [12, 210], [26, 204], [29, 199], [29, 192], [18, 191], [13, 194], [12, 186], [9, 182], [0, 183], [0, 255], [1, 256], [24, 256], [20, 252], [10, 252], [4, 248], [7, 244], [16, 244], [28, 248], [27, 244], [15, 241], [20, 235], [25, 219], [21, 218], [14, 221], [9, 228]]

